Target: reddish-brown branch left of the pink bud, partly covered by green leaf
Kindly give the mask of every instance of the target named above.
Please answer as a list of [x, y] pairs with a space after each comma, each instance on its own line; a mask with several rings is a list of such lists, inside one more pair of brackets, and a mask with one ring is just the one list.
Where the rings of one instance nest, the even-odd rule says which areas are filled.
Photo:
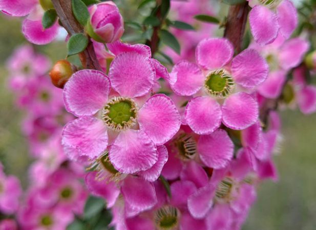
[[[62, 26], [67, 30], [69, 35], [85, 32], [72, 13], [71, 0], [52, 0], [52, 3]], [[89, 41], [87, 49], [79, 54], [79, 57], [83, 67], [102, 70], [91, 41]]]

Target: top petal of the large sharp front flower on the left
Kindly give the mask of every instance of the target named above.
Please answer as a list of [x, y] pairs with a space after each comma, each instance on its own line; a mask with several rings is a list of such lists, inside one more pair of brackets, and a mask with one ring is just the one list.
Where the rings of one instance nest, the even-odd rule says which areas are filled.
[[121, 96], [140, 97], [149, 93], [156, 76], [150, 58], [136, 52], [122, 53], [111, 63], [109, 77], [112, 87]]

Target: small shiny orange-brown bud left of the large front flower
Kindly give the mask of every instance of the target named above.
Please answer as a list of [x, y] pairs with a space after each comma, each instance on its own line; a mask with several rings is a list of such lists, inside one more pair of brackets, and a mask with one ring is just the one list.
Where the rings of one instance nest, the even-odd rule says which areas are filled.
[[64, 88], [64, 85], [75, 72], [75, 67], [67, 60], [57, 61], [53, 66], [49, 76], [53, 85], [58, 88]]

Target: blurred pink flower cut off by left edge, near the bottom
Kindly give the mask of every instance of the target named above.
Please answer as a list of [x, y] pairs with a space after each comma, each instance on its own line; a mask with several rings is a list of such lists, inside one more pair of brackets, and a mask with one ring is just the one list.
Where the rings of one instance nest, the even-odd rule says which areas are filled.
[[5, 214], [16, 212], [20, 195], [22, 188], [19, 180], [12, 175], [6, 176], [0, 164], [0, 211]]

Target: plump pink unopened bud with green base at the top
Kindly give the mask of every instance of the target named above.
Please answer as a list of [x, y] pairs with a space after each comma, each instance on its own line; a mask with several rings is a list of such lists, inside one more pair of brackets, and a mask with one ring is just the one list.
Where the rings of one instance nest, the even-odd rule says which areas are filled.
[[124, 32], [124, 21], [113, 2], [93, 5], [90, 8], [90, 15], [86, 28], [90, 37], [105, 43], [120, 39]]

